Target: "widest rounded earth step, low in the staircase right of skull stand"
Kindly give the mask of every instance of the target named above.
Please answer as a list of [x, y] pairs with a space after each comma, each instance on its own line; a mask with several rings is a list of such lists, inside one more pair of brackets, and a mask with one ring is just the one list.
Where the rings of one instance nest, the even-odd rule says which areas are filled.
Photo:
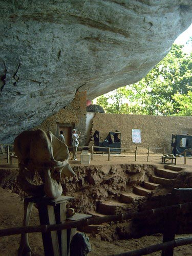
[[128, 214], [132, 212], [131, 204], [118, 201], [103, 201], [97, 205], [97, 211], [104, 215]]

